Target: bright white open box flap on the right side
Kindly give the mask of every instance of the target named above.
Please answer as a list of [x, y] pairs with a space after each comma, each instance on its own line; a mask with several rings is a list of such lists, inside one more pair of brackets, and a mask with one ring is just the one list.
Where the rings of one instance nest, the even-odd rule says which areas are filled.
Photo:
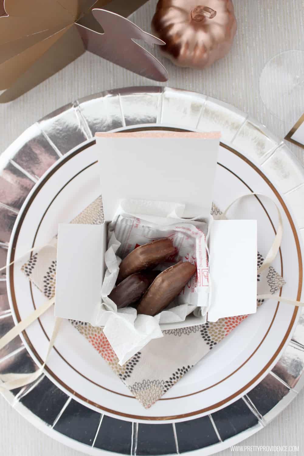
[[207, 320], [257, 310], [257, 221], [214, 220], [209, 238], [211, 302]]

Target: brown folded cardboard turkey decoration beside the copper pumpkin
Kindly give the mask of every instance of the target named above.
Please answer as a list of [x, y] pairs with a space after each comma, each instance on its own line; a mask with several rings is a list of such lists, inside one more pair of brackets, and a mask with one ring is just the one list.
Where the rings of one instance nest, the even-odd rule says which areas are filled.
[[107, 10], [93, 10], [104, 33], [77, 23], [92, 16], [93, 5], [108, 1], [0, 0], [0, 90], [11, 87], [72, 28], [77, 30], [72, 45], [79, 48], [78, 55], [88, 49], [141, 76], [166, 81], [168, 73], [163, 65], [133, 41], [163, 45], [159, 38]]

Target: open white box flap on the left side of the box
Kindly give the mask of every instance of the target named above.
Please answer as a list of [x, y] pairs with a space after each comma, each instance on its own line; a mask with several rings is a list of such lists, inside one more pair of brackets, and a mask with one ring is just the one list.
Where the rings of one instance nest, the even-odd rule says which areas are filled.
[[95, 324], [105, 273], [106, 224], [60, 223], [55, 316]]

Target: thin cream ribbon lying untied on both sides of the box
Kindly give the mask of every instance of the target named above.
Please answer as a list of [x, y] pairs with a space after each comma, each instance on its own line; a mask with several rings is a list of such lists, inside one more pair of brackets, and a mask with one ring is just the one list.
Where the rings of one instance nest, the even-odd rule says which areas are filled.
[[[272, 198], [270, 198], [266, 195], [263, 195], [263, 193], [248, 193], [248, 194], [242, 195], [241, 197], [238, 197], [237, 199], [232, 201], [232, 203], [229, 204], [229, 206], [223, 212], [223, 215], [226, 216], [227, 211], [230, 209], [230, 207], [235, 202], [237, 202], [238, 200], [240, 200], [244, 197], [248, 197], [248, 196], [252, 196], [252, 195], [260, 195], [260, 196], [268, 198], [271, 202], [273, 202], [273, 204], [275, 205], [275, 207], [277, 208], [277, 211], [278, 211], [277, 233], [275, 235], [273, 244], [272, 244], [262, 266], [260, 268], [258, 268], [258, 274], [259, 274], [264, 269], [268, 268], [268, 266], [272, 263], [273, 259], [276, 257], [278, 250], [280, 248], [282, 235], [283, 235], [283, 221], [282, 221], [281, 213], [279, 211], [277, 204], [273, 201]], [[34, 250], [34, 249], [31, 249], [27, 253], [30, 253], [32, 250]], [[14, 263], [14, 261], [10, 264], [13, 264], [13, 263]], [[5, 267], [6, 266], [4, 266], [4, 268], [0, 268], [0, 270], [5, 269]], [[270, 294], [269, 295], [257, 295], [257, 299], [275, 299], [276, 301], [285, 302], [285, 303], [291, 304], [293, 306], [304, 306], [304, 302], [294, 301], [292, 299], [283, 298], [282, 296], [277, 296], [277, 295], [270, 295]], [[12, 341], [16, 336], [18, 336], [22, 331], [24, 331], [24, 329], [26, 329], [28, 326], [30, 326], [31, 323], [33, 323], [44, 312], [46, 312], [54, 304], [54, 302], [55, 302], [55, 298], [52, 298], [51, 300], [46, 301], [44, 304], [42, 304], [42, 306], [38, 307], [38, 309], [36, 309], [34, 312], [32, 312], [31, 315], [27, 316], [24, 320], [20, 321], [14, 328], [12, 328], [7, 334], [5, 334], [5, 336], [3, 336], [0, 339], [0, 349], [3, 348], [7, 343]], [[14, 388], [20, 388], [21, 386], [25, 386], [29, 383], [34, 382], [41, 375], [41, 373], [43, 372], [43, 369], [46, 366], [46, 362], [49, 358], [52, 348], [54, 346], [54, 342], [57, 337], [61, 321], [62, 321], [62, 318], [57, 317], [55, 319], [55, 325], [54, 325], [50, 343], [49, 343], [49, 346], [48, 346], [48, 349], [46, 352], [46, 359], [45, 359], [44, 363], [41, 365], [41, 367], [36, 372], [31, 373], [31, 374], [11, 373], [11, 374], [1, 375], [0, 379], [5, 383], [0, 384], [0, 391], [4, 392], [4, 391], [14, 389]]]

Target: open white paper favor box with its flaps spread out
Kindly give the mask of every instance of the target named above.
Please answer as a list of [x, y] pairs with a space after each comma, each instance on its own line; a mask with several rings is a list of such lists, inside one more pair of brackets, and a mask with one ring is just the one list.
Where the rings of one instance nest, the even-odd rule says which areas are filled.
[[[123, 199], [180, 203], [185, 206], [181, 217], [206, 218], [210, 226], [211, 280], [207, 320], [256, 311], [256, 220], [210, 223], [219, 139], [219, 133], [97, 134], [105, 222], [59, 225], [56, 316], [96, 325], [105, 274], [108, 222]], [[140, 215], [153, 220], [161, 213]], [[180, 328], [205, 321], [206, 317], [190, 315], [185, 321], [160, 324], [160, 327], [162, 330]]]

